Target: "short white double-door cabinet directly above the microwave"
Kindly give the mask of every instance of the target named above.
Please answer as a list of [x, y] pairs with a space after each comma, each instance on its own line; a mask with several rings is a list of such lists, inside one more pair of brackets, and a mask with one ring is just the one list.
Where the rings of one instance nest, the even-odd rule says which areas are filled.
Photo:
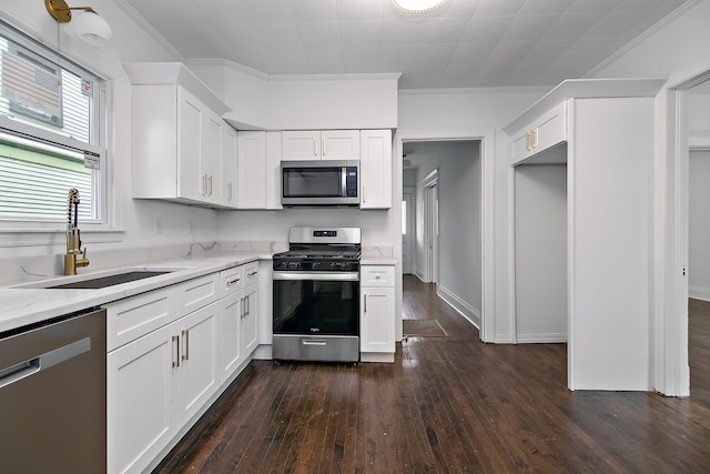
[[282, 160], [359, 160], [358, 130], [284, 131], [282, 144]]

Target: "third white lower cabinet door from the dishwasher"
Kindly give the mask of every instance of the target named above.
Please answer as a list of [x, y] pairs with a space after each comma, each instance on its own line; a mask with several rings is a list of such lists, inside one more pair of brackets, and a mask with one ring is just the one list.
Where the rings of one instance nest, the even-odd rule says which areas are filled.
[[220, 301], [220, 383], [226, 383], [242, 363], [242, 292]]

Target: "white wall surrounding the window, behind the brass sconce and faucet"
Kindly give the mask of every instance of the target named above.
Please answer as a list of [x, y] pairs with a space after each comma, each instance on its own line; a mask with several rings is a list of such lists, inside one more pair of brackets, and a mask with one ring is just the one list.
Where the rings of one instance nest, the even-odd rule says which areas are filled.
[[[91, 6], [111, 26], [111, 43], [99, 48], [88, 46], [77, 38], [71, 23], [62, 24], [61, 52], [111, 81], [109, 107], [113, 121], [109, 123], [111, 142], [108, 144], [108, 157], [114, 181], [110, 184], [109, 201], [115, 209], [116, 228], [124, 232], [97, 236], [88, 225], [81, 226], [80, 223], [90, 259], [99, 250], [216, 239], [219, 222], [217, 213], [213, 210], [131, 199], [131, 84], [122, 64], [141, 61], [181, 61], [182, 58], [170, 46], [160, 42], [142, 29], [113, 1], [93, 0]], [[47, 12], [43, 1], [4, 1], [0, 18], [49, 47], [57, 47], [58, 26]], [[160, 220], [160, 233], [155, 229], [156, 219]], [[60, 255], [64, 252], [61, 231], [48, 234], [48, 243], [27, 244], [22, 241], [22, 234], [10, 232], [7, 226], [0, 229], [0, 238], [3, 245], [0, 248], [0, 258], [51, 253]], [[94, 260], [93, 265], [95, 269], [99, 262]]]

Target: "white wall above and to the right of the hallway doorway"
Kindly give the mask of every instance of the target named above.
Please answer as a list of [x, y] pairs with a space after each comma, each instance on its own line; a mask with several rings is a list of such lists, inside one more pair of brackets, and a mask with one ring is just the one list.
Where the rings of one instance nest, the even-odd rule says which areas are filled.
[[[399, 92], [398, 129], [404, 133], [436, 140], [452, 134], [476, 137], [481, 130], [494, 130], [495, 153], [494, 239], [496, 242], [495, 301], [487, 324], [495, 326], [495, 342], [513, 341], [510, 305], [510, 143], [503, 128], [547, 92], [540, 88], [498, 90], [429, 90]], [[398, 190], [400, 193], [402, 190]], [[484, 315], [486, 316], [486, 315]]]

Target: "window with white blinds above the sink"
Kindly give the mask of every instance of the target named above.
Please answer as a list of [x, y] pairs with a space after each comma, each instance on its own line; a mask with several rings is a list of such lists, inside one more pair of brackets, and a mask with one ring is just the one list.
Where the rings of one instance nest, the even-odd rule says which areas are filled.
[[104, 81], [0, 23], [0, 220], [105, 219]]

